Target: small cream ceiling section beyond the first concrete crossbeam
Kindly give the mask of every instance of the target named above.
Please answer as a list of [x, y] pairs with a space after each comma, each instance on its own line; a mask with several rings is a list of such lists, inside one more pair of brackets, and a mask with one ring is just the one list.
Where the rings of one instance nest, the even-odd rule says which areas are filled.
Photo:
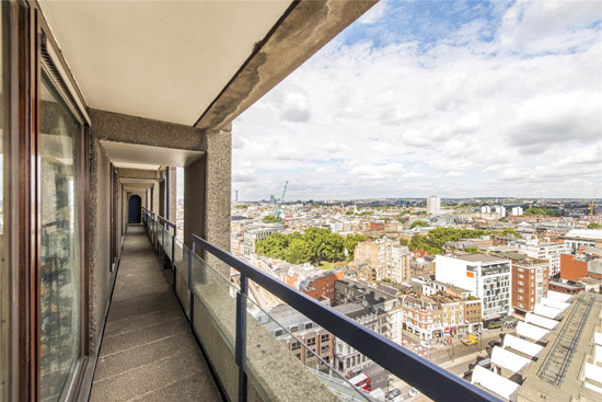
[[151, 147], [101, 140], [108, 159], [116, 168], [158, 170], [160, 166], [184, 168], [200, 158], [204, 151]]

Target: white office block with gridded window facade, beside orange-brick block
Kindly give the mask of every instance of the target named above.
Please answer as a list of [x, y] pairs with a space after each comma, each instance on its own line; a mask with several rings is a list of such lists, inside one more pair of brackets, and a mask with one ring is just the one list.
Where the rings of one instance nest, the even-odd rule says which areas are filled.
[[487, 255], [437, 255], [437, 280], [467, 289], [483, 300], [482, 315], [509, 314], [510, 261]]

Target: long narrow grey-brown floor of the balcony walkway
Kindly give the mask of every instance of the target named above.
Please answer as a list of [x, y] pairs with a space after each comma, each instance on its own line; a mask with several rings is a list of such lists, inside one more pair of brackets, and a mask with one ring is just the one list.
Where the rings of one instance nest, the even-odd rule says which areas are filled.
[[90, 401], [221, 401], [142, 229], [130, 226]]

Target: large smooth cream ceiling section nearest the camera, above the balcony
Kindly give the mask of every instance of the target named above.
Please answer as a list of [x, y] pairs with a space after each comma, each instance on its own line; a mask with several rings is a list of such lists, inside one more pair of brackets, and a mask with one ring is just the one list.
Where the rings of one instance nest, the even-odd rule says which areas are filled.
[[88, 106], [193, 125], [291, 1], [39, 1]]

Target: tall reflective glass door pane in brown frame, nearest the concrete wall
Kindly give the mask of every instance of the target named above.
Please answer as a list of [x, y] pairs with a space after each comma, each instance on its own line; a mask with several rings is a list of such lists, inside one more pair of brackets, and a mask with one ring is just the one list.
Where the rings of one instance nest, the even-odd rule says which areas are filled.
[[50, 80], [40, 85], [40, 400], [69, 392], [81, 357], [82, 126]]

